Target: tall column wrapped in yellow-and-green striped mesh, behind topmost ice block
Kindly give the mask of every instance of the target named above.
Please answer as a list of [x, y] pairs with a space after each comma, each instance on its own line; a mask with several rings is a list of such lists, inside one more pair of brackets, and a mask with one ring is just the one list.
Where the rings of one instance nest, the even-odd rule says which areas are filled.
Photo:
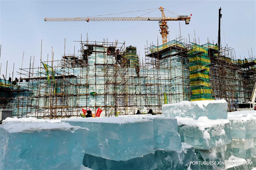
[[191, 101], [214, 100], [212, 98], [212, 88], [210, 87], [210, 57], [208, 48], [201, 45], [192, 44], [192, 49], [188, 52], [189, 74], [191, 87]]

